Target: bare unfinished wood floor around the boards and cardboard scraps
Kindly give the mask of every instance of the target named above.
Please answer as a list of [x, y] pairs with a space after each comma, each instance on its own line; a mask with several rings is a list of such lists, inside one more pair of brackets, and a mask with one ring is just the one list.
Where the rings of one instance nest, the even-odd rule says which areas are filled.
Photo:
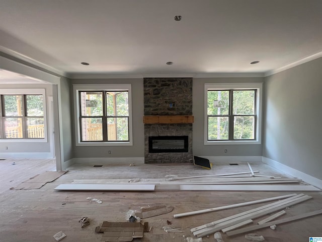
[[[13, 162], [15, 164], [13, 165]], [[95, 164], [93, 164], [95, 165]], [[34, 175], [55, 169], [54, 160], [42, 159], [7, 159], [0, 161], [0, 241], [56, 241], [53, 237], [59, 231], [67, 236], [60, 241], [101, 241], [102, 234], [94, 232], [102, 221], [125, 222], [128, 210], [138, 210], [143, 206], [173, 206], [171, 213], [163, 214], [144, 221], [152, 226], [143, 238], [133, 241], [185, 241], [184, 236], [191, 236], [190, 228], [209, 223], [236, 213], [244, 212], [268, 203], [232, 208], [217, 212], [189, 217], [173, 218], [173, 214], [225, 206], [252, 200], [276, 197], [292, 193], [304, 193], [312, 196], [306, 202], [287, 208], [286, 215], [293, 216], [322, 209], [322, 192], [225, 192], [225, 191], [156, 191], [156, 192], [69, 192], [54, 191], [60, 184], [72, 183], [73, 179], [121, 179], [121, 178], [165, 178], [166, 175], [195, 176], [249, 171], [246, 163], [229, 165], [214, 164], [211, 170], [192, 164], [141, 164], [110, 165], [73, 165], [68, 172], [47, 183], [40, 189], [10, 190]], [[263, 163], [251, 163], [253, 170], [262, 175], [289, 177]], [[88, 197], [100, 199], [103, 203], [87, 200]], [[90, 218], [90, 225], [81, 228], [78, 220]], [[265, 216], [266, 217], [266, 216]], [[265, 217], [254, 220], [255, 222]], [[184, 232], [165, 232], [167, 220], [173, 227], [180, 227]], [[322, 236], [322, 215], [277, 225], [276, 230], [263, 228], [253, 231], [265, 237], [265, 241], [308, 241], [309, 236]], [[245, 234], [227, 237], [225, 242], [249, 241]], [[213, 235], [203, 237], [202, 241], [215, 241]]]

